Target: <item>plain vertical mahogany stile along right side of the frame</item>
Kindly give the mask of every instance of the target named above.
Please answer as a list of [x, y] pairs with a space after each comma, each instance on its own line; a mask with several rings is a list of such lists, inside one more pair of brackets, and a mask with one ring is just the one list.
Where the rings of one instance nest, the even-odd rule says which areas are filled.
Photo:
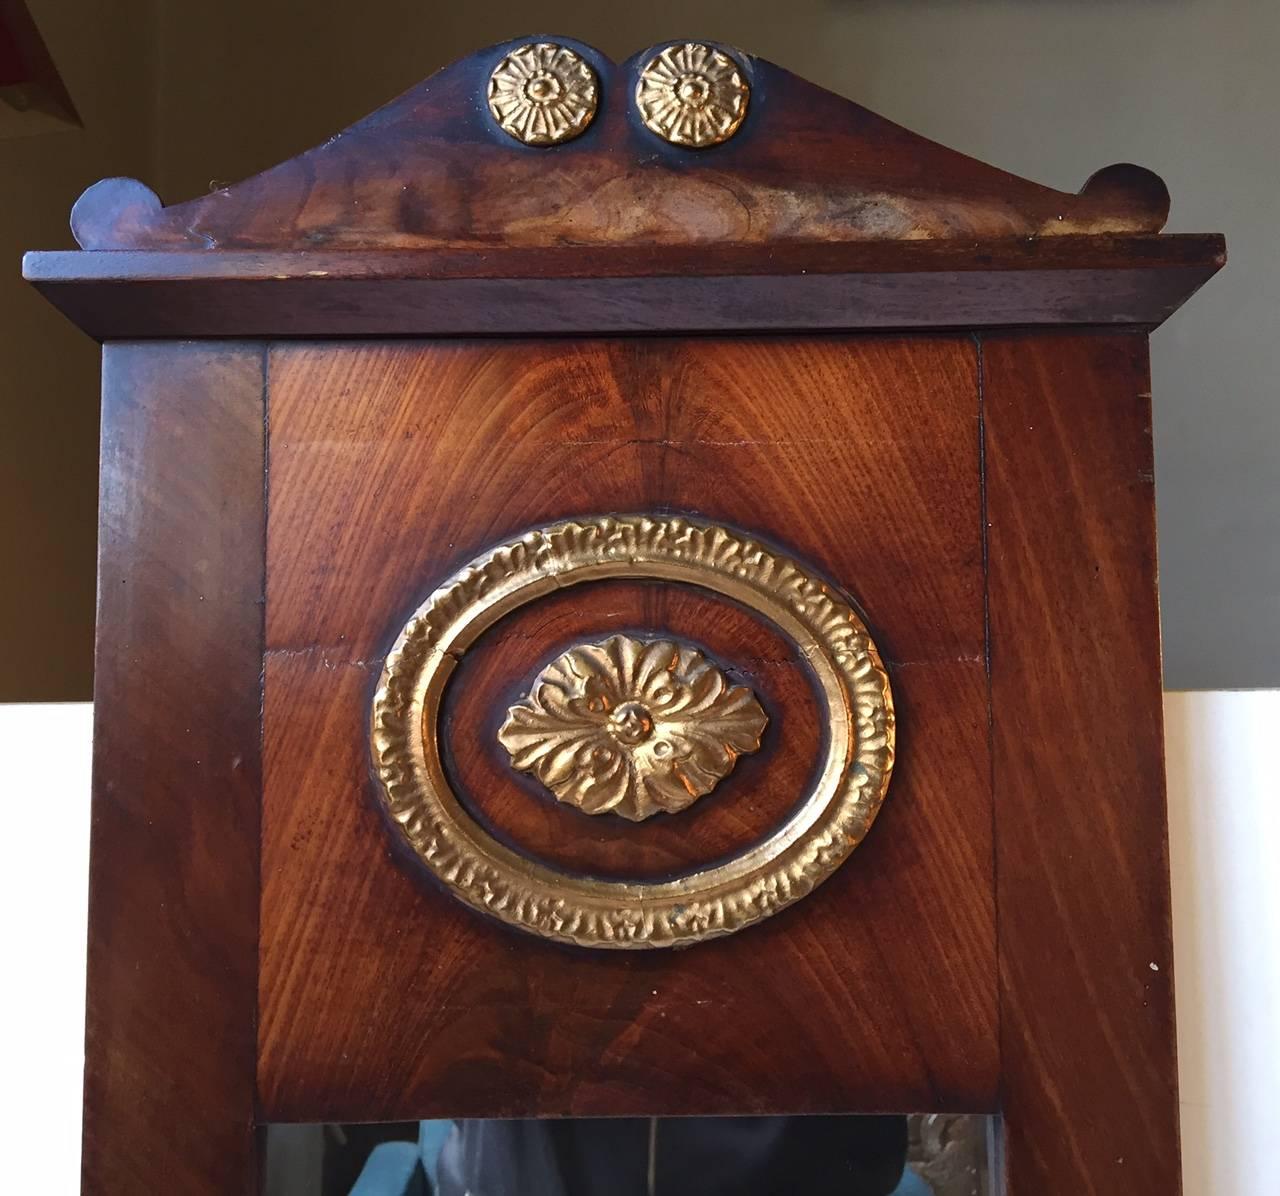
[[982, 362], [1007, 1191], [1174, 1196], [1147, 342]]

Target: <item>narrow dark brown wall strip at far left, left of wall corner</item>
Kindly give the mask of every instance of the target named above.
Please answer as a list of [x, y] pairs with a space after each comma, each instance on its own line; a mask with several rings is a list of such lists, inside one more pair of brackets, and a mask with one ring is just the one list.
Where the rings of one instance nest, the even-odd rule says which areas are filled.
[[72, 245], [95, 178], [151, 170], [150, 4], [31, 5], [83, 129], [0, 140], [0, 702], [87, 698], [93, 666], [97, 347], [19, 274]]

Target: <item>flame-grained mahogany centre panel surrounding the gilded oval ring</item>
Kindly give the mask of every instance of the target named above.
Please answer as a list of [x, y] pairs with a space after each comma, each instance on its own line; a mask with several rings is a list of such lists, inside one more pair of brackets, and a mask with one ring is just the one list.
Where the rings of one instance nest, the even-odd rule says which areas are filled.
[[[278, 346], [269, 405], [266, 1117], [995, 1108], [970, 339]], [[851, 861], [686, 951], [474, 914], [393, 852], [369, 776], [412, 608], [493, 542], [602, 510], [698, 512], [826, 570], [901, 716]], [[584, 625], [607, 613], [584, 598]]]

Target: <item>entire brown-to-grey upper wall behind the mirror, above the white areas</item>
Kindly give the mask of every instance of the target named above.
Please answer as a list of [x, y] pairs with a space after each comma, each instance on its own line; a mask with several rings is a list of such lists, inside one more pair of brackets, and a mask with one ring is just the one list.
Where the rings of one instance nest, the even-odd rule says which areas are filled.
[[[1064, 190], [1137, 161], [1228, 270], [1152, 341], [1170, 688], [1280, 684], [1280, 5], [1268, 0], [32, 4], [83, 132], [0, 142], [0, 699], [88, 694], [96, 353], [20, 282], [104, 174], [166, 202], [320, 142], [521, 33], [707, 37]], [[70, 12], [69, 12], [70, 10]]]

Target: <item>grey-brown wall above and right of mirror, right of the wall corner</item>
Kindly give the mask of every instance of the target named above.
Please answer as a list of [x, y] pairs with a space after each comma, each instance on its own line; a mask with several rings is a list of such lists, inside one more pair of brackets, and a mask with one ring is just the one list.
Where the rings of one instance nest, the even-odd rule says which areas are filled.
[[[1166, 681], [1280, 685], [1280, 6], [161, 3], [147, 182], [173, 202], [253, 173], [521, 32], [568, 33], [614, 58], [660, 38], [710, 37], [1053, 187], [1074, 191], [1124, 160], [1164, 175], [1170, 229], [1225, 232], [1231, 254], [1152, 342]], [[110, 169], [133, 169], [127, 159], [122, 151]], [[61, 210], [73, 198], [59, 196]], [[33, 371], [29, 353], [23, 369]]]

